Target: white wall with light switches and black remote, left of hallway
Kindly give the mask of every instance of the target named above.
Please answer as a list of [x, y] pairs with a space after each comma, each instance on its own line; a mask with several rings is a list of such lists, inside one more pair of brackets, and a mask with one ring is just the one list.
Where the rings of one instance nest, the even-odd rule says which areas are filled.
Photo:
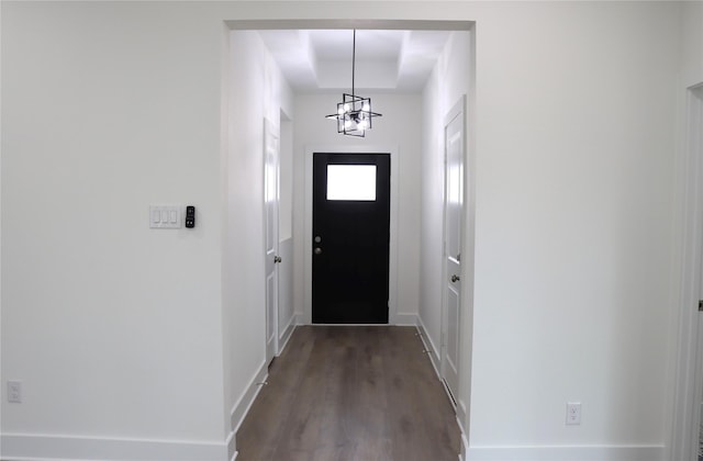
[[[3, 458], [220, 456], [222, 29], [188, 4], [2, 13]], [[198, 225], [149, 229], [149, 204]]]

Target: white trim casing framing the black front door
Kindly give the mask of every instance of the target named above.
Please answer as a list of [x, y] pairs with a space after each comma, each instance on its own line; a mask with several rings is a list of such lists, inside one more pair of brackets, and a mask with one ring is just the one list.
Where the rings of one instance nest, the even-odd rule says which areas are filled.
[[314, 153], [338, 154], [390, 154], [391, 156], [391, 225], [390, 225], [390, 261], [389, 261], [389, 293], [388, 323], [389, 325], [415, 325], [416, 314], [398, 312], [398, 146], [392, 145], [311, 145], [305, 146], [305, 196], [304, 196], [304, 293], [303, 293], [303, 324], [312, 323], [312, 159]]

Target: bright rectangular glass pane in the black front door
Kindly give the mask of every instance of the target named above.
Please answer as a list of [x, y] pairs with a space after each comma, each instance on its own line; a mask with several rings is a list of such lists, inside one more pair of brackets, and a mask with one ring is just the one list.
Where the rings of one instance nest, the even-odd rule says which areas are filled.
[[327, 200], [376, 200], [376, 165], [327, 165]]

